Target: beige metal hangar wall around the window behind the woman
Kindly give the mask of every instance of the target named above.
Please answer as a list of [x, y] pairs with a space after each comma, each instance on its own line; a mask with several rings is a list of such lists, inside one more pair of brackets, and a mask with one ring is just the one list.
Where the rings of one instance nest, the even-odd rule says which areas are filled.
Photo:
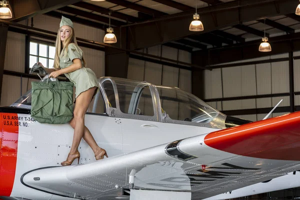
[[[59, 28], [59, 22], [60, 19], [58, 18], [46, 15], [36, 15], [33, 18], [33, 27], [57, 32]], [[27, 20], [21, 21], [20, 23], [27, 25]], [[31, 23], [30, 20], [29, 23]], [[94, 41], [102, 41], [105, 34], [103, 30], [77, 23], [74, 23], [74, 29], [76, 37]], [[42, 40], [43, 38], [40, 39]], [[84, 58], [86, 60], [87, 67], [91, 68], [97, 77], [104, 76], [105, 52], [85, 47], [81, 47], [81, 49], [84, 52]], [[25, 71], [24, 34], [8, 31], [4, 69], [17, 72]], [[4, 75], [0, 105], [10, 105], [12, 102], [14, 102], [21, 95], [21, 90], [22, 94], [24, 94], [27, 89], [31, 88], [32, 80], [34, 79], [29, 78], [28, 80], [28, 78]]]

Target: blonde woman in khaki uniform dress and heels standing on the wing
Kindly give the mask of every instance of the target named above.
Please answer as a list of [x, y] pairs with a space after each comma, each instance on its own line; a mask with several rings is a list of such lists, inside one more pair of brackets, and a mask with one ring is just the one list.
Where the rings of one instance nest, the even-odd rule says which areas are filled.
[[96, 160], [104, 158], [104, 155], [108, 157], [106, 151], [97, 145], [90, 131], [84, 125], [84, 115], [94, 94], [99, 90], [99, 85], [95, 73], [84, 67], [85, 60], [82, 50], [77, 45], [73, 23], [64, 16], [60, 21], [55, 48], [54, 68], [46, 68], [40, 62], [38, 64], [49, 73], [49, 77], [56, 78], [60, 74], [65, 74], [76, 88], [76, 103], [73, 118], [70, 120], [70, 125], [74, 128], [73, 141], [70, 152], [61, 165], [70, 165], [76, 158], [79, 163], [78, 146], [82, 137], [93, 150]]

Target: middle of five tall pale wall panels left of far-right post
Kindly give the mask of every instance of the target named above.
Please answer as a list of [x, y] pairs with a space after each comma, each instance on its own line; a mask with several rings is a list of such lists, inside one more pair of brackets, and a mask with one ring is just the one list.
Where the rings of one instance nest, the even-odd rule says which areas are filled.
[[241, 66], [241, 95], [256, 95], [255, 65]]

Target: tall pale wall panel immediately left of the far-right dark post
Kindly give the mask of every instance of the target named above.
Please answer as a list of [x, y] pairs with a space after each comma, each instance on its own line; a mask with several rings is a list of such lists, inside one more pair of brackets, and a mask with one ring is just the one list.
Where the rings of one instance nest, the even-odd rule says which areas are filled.
[[288, 61], [272, 62], [272, 93], [289, 92]]

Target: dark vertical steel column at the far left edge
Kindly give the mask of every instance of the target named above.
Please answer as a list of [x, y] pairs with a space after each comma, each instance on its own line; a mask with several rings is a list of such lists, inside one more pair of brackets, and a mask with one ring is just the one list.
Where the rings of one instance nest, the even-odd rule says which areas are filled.
[[2, 91], [3, 70], [5, 61], [6, 41], [7, 41], [8, 25], [0, 24], [0, 101]]

